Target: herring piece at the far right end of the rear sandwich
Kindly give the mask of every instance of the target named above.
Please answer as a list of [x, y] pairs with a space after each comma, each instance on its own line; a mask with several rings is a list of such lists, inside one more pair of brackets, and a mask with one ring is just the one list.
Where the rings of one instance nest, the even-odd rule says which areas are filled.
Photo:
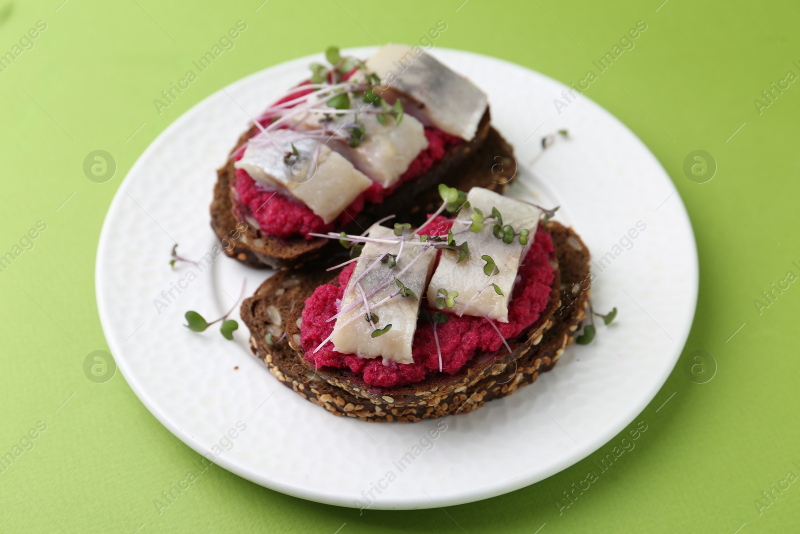
[[424, 104], [423, 113], [434, 126], [467, 141], [474, 138], [488, 101], [470, 80], [419, 46], [382, 46], [366, 66], [381, 78], [382, 90], [388, 86]]

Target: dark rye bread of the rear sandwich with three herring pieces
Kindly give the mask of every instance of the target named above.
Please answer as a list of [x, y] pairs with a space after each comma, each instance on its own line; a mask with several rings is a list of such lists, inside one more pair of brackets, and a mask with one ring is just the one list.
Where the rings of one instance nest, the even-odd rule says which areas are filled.
[[[250, 139], [254, 128], [239, 138], [236, 148]], [[516, 172], [512, 148], [490, 126], [490, 114], [486, 110], [473, 141], [450, 147], [426, 173], [403, 183], [383, 203], [367, 205], [353, 223], [337, 231], [360, 234], [388, 214], [397, 215], [397, 220], [404, 223], [418, 225], [424, 222], [426, 213], [441, 203], [436, 191], [439, 183], [445, 182], [462, 191], [479, 186], [502, 193]], [[330, 239], [281, 239], [238, 220], [231, 197], [231, 188], [236, 184], [233, 159], [229, 158], [217, 171], [217, 178], [211, 203], [211, 227], [222, 241], [226, 255], [251, 267], [291, 269], [330, 265], [342, 253], [342, 247]]]

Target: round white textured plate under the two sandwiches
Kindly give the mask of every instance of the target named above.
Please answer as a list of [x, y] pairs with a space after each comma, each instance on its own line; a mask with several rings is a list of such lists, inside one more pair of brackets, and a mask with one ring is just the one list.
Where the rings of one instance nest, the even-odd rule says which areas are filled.
[[[373, 51], [350, 50], [362, 57]], [[180, 243], [180, 254], [197, 259], [214, 247], [208, 206], [215, 169], [247, 114], [258, 114], [322, 58], [248, 76], [183, 114], [131, 168], [102, 228], [96, 282], [106, 339], [139, 399], [203, 456], [224, 446], [215, 463], [257, 484], [342, 506], [366, 503], [371, 490], [373, 508], [394, 509], [510, 492], [582, 460], [625, 428], [662, 387], [686, 342], [698, 291], [694, 235], [650, 151], [586, 97], [558, 114], [553, 101], [563, 100], [566, 86], [542, 74], [458, 50], [432, 54], [489, 94], [494, 126], [523, 167], [541, 151], [542, 135], [569, 130], [570, 139], [523, 172], [510, 194], [524, 195], [524, 184], [542, 203], [561, 204], [559, 219], [574, 225], [594, 259], [610, 253], [605, 270], [593, 264], [592, 296], [598, 311], [618, 307], [618, 319], [515, 395], [417, 424], [331, 416], [266, 371], [250, 353], [243, 325], [235, 342], [216, 328], [188, 331], [187, 310], [216, 318], [233, 305], [243, 278], [250, 295], [271, 273], [225, 256], [204, 271], [185, 264], [172, 271], [170, 248]], [[630, 250], [614, 248], [639, 221], [646, 230]], [[191, 282], [190, 271], [197, 275]], [[166, 303], [161, 292], [174, 284], [186, 289], [173, 290], [175, 298], [157, 310], [155, 299]], [[246, 428], [238, 432], [237, 424]], [[446, 430], [426, 441], [438, 424]], [[225, 437], [230, 429], [235, 439]], [[407, 452], [414, 461], [401, 471], [396, 463]], [[375, 485], [386, 489], [378, 493]]]

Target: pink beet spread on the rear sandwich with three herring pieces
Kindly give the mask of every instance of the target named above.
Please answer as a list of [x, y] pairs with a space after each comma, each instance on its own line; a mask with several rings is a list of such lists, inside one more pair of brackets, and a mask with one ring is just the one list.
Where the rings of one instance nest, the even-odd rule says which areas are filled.
[[[345, 78], [349, 77], [350, 75]], [[278, 100], [274, 105], [288, 102], [310, 92], [311, 90], [308, 89], [298, 90]], [[259, 118], [262, 126], [269, 124], [270, 120], [270, 118]], [[345, 226], [358, 215], [358, 212], [364, 209], [365, 203], [382, 203], [383, 199], [391, 195], [402, 183], [418, 178], [428, 171], [434, 163], [444, 157], [445, 151], [449, 147], [464, 142], [460, 137], [447, 134], [434, 126], [425, 127], [425, 137], [428, 139], [428, 147], [420, 151], [417, 158], [410, 163], [408, 169], [400, 176], [397, 183], [386, 189], [378, 183], [372, 183], [366, 191], [354, 199], [350, 206], [346, 207], [338, 219], [328, 224], [318, 215], [314, 215], [314, 212], [305, 204], [289, 196], [267, 191], [259, 186], [246, 171], [238, 169], [236, 171], [236, 193], [238, 197], [236, 211], [238, 218], [252, 217], [256, 220], [262, 232], [284, 239], [302, 235], [310, 240], [314, 239], [313, 236], [308, 235], [310, 232], [325, 233], [333, 230], [334, 227]], [[236, 151], [234, 158], [238, 161], [242, 159], [242, 155], [244, 155], [244, 151], [240, 149]]]

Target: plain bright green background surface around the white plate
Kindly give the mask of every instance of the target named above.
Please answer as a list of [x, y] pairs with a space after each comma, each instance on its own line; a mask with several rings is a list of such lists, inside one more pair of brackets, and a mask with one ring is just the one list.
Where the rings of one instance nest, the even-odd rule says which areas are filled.
[[[0, 53], [38, 20], [47, 24], [34, 49], [0, 73], [0, 254], [37, 221], [47, 225], [34, 248], [0, 273], [0, 452], [38, 421], [47, 425], [34, 449], [0, 473], [2, 532], [471, 534], [544, 525], [542, 534], [747, 534], [800, 523], [800, 484], [775, 492], [774, 502], [762, 496], [787, 472], [800, 475], [793, 464], [800, 464], [793, 341], [800, 287], [776, 293], [760, 314], [754, 305], [787, 271], [800, 274], [792, 264], [800, 263], [800, 86], [792, 83], [761, 113], [754, 105], [787, 70], [800, 74], [796, 5], [269, 0], [258, 9], [261, 1], [0, 0]], [[153, 99], [240, 19], [248, 26], [234, 50], [159, 115]], [[538, 484], [444, 510], [359, 515], [214, 466], [159, 515], [153, 500], [200, 457], [146, 412], [121, 374], [93, 383], [82, 367], [91, 351], [108, 348], [94, 259], [119, 183], [159, 132], [220, 87], [333, 43], [417, 42], [438, 20], [447, 30], [437, 46], [517, 62], [562, 82], [583, 78], [594, 59], [646, 22], [634, 50], [586, 96], [630, 126], [666, 167], [697, 236], [697, 316], [681, 361], [638, 416], [647, 431], [561, 513], [562, 492], [596, 470], [594, 460], [622, 436]], [[107, 183], [82, 171], [95, 150], [116, 159]], [[695, 150], [718, 164], [708, 183], [684, 175]], [[693, 375], [683, 364], [695, 350], [715, 363], [706, 358]], [[508, 460], [486, 451], [486, 469]]]

